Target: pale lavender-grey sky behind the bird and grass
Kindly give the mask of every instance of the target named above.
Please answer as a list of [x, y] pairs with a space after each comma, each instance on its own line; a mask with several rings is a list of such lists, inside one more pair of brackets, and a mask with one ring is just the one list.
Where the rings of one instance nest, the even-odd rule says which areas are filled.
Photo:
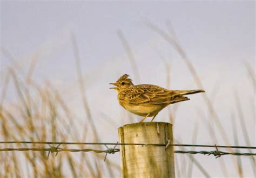
[[[197, 89], [196, 83], [180, 55], [159, 34], [145, 25], [153, 23], [168, 32], [171, 22], [177, 38], [192, 61], [221, 122], [233, 140], [232, 122], [236, 120], [235, 92], [238, 93], [246, 119], [251, 144], [255, 146], [255, 92], [245, 62], [255, 68], [255, 2], [254, 1], [1, 1], [1, 47], [7, 49], [21, 68], [21, 78], [28, 73], [32, 59], [37, 58], [32, 79], [40, 84], [50, 81], [69, 101], [77, 123], [86, 123], [79, 94], [75, 58], [70, 33], [75, 34], [86, 96], [99, 135], [105, 142], [118, 140], [117, 127], [100, 119], [102, 113], [117, 126], [128, 124], [128, 113], [119, 106], [109, 83], [130, 74], [134, 83], [151, 83], [166, 87], [166, 60], [171, 68], [170, 89]], [[136, 79], [117, 31], [129, 42], [140, 81]], [[1, 53], [1, 89], [10, 60]], [[15, 102], [15, 90], [8, 88], [6, 102]], [[203, 98], [197, 94], [179, 105], [174, 138], [191, 143], [193, 125], [198, 123], [194, 144], [214, 144], [207, 127], [198, 118], [198, 108], [211, 120]], [[172, 107], [172, 106], [169, 106]], [[231, 117], [234, 112], [235, 117]], [[168, 122], [167, 109], [156, 121]], [[122, 119], [120, 119], [122, 118]], [[139, 120], [140, 117], [134, 117]], [[103, 124], [104, 123], [104, 124]], [[215, 132], [218, 130], [212, 125]], [[110, 129], [111, 128], [111, 129]], [[240, 129], [238, 135], [242, 136]], [[220, 134], [217, 133], [221, 138]], [[245, 145], [242, 137], [240, 145]], [[81, 136], [82, 139], [82, 136]], [[85, 140], [81, 140], [85, 141]], [[90, 138], [86, 141], [90, 141]], [[219, 144], [225, 144], [222, 139]], [[232, 142], [233, 144], [233, 142]], [[75, 153], [74, 153], [75, 154]], [[184, 155], [185, 156], [185, 155]], [[212, 176], [221, 176], [213, 157], [194, 155]], [[231, 156], [223, 156], [227, 163]], [[119, 161], [119, 155], [108, 159]], [[241, 157], [245, 176], [253, 172], [248, 158]], [[214, 166], [215, 165], [215, 166]], [[237, 170], [228, 167], [230, 176]], [[202, 176], [197, 168], [193, 176]]]

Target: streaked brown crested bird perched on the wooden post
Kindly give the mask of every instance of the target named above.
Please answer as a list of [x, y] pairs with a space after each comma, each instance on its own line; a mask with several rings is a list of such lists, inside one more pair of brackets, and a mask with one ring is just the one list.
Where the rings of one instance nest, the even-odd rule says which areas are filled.
[[169, 90], [153, 84], [139, 84], [134, 86], [128, 74], [121, 76], [116, 82], [109, 83], [115, 87], [118, 102], [124, 109], [143, 116], [140, 122], [147, 117], [153, 117], [151, 122], [157, 116], [158, 112], [167, 105], [190, 100], [184, 95], [197, 94], [205, 92], [204, 90]]

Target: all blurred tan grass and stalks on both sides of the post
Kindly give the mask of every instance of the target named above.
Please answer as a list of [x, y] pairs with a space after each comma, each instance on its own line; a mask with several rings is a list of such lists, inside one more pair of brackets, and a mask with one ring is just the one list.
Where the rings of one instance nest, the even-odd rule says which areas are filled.
[[[181, 55], [181, 58], [184, 60], [185, 65], [188, 67], [188, 70], [190, 70], [192, 76], [194, 77], [194, 82], [200, 89], [203, 89], [203, 83], [200, 80], [196, 68], [192, 65], [192, 61], [190, 61], [184, 49], [181, 48], [171, 23], [166, 23], [169, 30], [168, 33], [159, 29], [159, 27], [155, 26], [154, 24], [146, 23], [146, 25], [161, 35], [161, 37], [168, 41], [172, 47], [177, 50], [177, 52]], [[125, 48], [127, 56], [129, 57], [134, 76], [136, 76], [136, 80], [140, 81], [138, 66], [136, 65], [136, 60], [132, 53], [131, 47], [127, 42], [127, 39], [125, 39], [122, 31], [118, 31], [117, 34]], [[91, 116], [91, 109], [87, 103], [85, 94], [86, 88], [83, 82], [84, 79], [80, 66], [79, 50], [75, 34], [73, 33], [71, 34], [71, 41], [73, 52], [75, 54], [74, 59], [77, 70], [80, 96], [83, 101], [86, 116], [85, 120], [87, 121], [87, 123], [84, 125], [84, 133], [82, 134], [83, 140], [92, 139], [94, 141], [100, 141], [96, 124], [93, 122]], [[73, 120], [75, 115], [73, 115], [72, 111], [69, 109], [69, 105], [65, 103], [64, 98], [59, 93], [59, 91], [54, 88], [50, 82], [46, 82], [45, 84], [37, 84], [32, 80], [32, 74], [34, 72], [35, 66], [37, 65], [39, 56], [35, 55], [34, 58], [32, 58], [28, 73], [25, 75], [24, 70], [17, 65], [10, 52], [8, 52], [8, 50], [5, 48], [1, 48], [1, 51], [6, 56], [6, 58], [10, 60], [11, 66], [9, 67], [8, 72], [6, 72], [0, 97], [0, 138], [4, 141], [81, 141], [78, 140], [79, 133], [77, 125], [79, 125], [79, 123], [74, 123]], [[167, 88], [170, 88], [171, 65], [170, 62], [164, 58], [162, 61], [166, 67], [166, 85]], [[249, 79], [252, 83], [252, 88], [255, 92], [256, 82], [254, 71], [252, 67], [248, 65], [248, 63], [245, 63], [245, 66], [249, 74]], [[20, 76], [24, 76], [24, 79], [20, 79]], [[16, 102], [14, 103], [4, 102], [10, 82], [14, 84], [16, 89]], [[203, 99], [207, 105], [210, 117], [205, 116], [203, 111], [198, 108], [197, 113], [199, 119], [208, 128], [207, 130], [211, 136], [210, 139], [214, 144], [217, 144], [218, 139], [213, 130], [212, 124], [217, 125], [217, 129], [221, 133], [225, 144], [230, 145], [231, 140], [228, 139], [224, 126], [221, 124], [219, 116], [213, 107], [214, 97], [217, 94], [217, 88], [214, 88], [212, 92], [214, 95], [211, 97], [208, 97], [207, 94], [203, 95]], [[246, 123], [242, 113], [242, 107], [237, 94], [235, 94], [235, 98], [235, 111], [238, 113], [241, 126], [240, 129], [242, 130], [247, 145], [250, 146], [251, 143], [247, 133], [245, 125]], [[176, 104], [173, 105], [172, 108], [168, 109], [169, 119], [173, 124], [174, 129], [178, 106], [179, 104]], [[101, 115], [104, 118], [104, 122], [111, 124], [113, 129], [117, 129], [118, 124], [114, 122], [114, 119], [110, 118], [102, 111]], [[235, 116], [232, 116], [231, 118], [233, 117]], [[212, 119], [213, 122], [210, 123], [207, 118]], [[133, 118], [131, 117], [131, 119]], [[234, 122], [232, 128], [234, 143], [238, 144], [238, 136], [235, 132], [238, 128]], [[89, 136], [88, 132], [90, 129], [93, 134], [90, 134]], [[196, 122], [192, 134], [192, 144], [196, 144], [197, 142], [198, 129], [198, 124]], [[175, 143], [181, 143], [181, 138], [177, 138], [179, 138], [179, 136], [176, 136]], [[4, 145], [4, 147], [9, 146], [11, 145]], [[17, 146], [24, 145], [19, 144]], [[63, 145], [63, 147], [65, 148], [67, 146]], [[81, 145], [79, 148], [84, 147]], [[181, 147], [181, 149], [184, 148]], [[193, 166], [196, 166], [205, 177], [210, 177], [210, 175], [207, 173], [207, 169], [201, 165], [195, 156], [187, 156], [188, 159], [185, 159], [184, 155], [179, 155], [179, 157], [176, 156], [176, 174], [178, 177], [193, 176]], [[106, 175], [113, 177], [115, 173], [119, 172], [120, 166], [117, 163], [108, 159], [103, 163], [103, 159], [104, 155], [92, 153], [72, 154], [69, 152], [63, 152], [57, 157], [50, 154], [50, 158], [47, 159], [47, 153], [45, 152], [2, 152], [0, 153], [0, 161], [3, 162], [3, 164], [0, 167], [0, 177], [66, 177], [68, 175], [72, 175], [72, 177], [105, 177]], [[178, 160], [181, 162], [178, 162]], [[221, 159], [218, 160], [223, 175], [227, 177], [229, 174], [225, 161]], [[24, 164], [24, 162], [26, 164]], [[243, 177], [244, 174], [240, 157], [237, 156], [237, 159], [233, 158], [233, 163], [238, 170], [238, 176]], [[251, 166], [252, 169], [255, 168], [255, 160], [253, 156], [251, 156]]]

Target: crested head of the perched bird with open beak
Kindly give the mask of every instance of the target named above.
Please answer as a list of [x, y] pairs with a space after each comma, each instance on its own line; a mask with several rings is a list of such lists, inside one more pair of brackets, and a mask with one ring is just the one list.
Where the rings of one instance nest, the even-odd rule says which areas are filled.
[[128, 74], [124, 74], [115, 83], [110, 83], [116, 86], [116, 87], [111, 87], [110, 89], [115, 89], [117, 91], [117, 94], [119, 94], [119, 92], [122, 92], [127, 88], [134, 86], [132, 83], [132, 80], [128, 79], [128, 77], [129, 77]]

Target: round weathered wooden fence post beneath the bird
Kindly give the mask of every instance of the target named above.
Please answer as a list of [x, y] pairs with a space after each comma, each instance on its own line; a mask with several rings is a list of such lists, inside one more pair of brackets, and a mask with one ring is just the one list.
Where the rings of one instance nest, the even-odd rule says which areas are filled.
[[[173, 144], [172, 124], [145, 122], [118, 129], [119, 143]], [[175, 177], [173, 146], [121, 145], [122, 177]]]

